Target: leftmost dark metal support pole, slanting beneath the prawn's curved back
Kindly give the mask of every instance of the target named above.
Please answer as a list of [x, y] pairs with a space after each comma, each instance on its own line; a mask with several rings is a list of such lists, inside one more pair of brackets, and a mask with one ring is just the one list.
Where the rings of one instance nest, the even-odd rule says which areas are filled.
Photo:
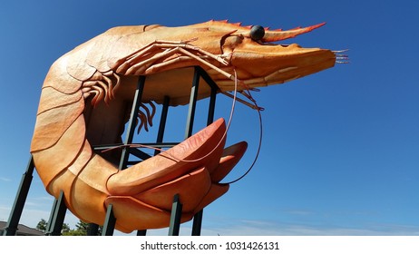
[[15, 202], [13, 204], [12, 210], [10, 211], [9, 220], [5, 226], [5, 231], [3, 232], [4, 236], [15, 236], [17, 231], [17, 226], [19, 225], [20, 217], [24, 210], [24, 202], [26, 201], [29, 188], [31, 187], [31, 182], [34, 174], [34, 159], [29, 159], [26, 171], [22, 175], [22, 180], [19, 184], [19, 189], [17, 189]]

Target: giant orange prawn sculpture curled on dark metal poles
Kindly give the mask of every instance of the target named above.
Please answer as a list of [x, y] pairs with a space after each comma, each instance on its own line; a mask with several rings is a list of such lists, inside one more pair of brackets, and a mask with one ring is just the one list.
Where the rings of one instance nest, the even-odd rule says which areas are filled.
[[138, 76], [147, 77], [142, 103], [169, 96], [173, 106], [189, 102], [186, 67], [194, 65], [210, 74], [219, 93], [285, 83], [336, 63], [338, 54], [330, 50], [273, 44], [321, 25], [288, 31], [226, 21], [121, 26], [77, 46], [54, 62], [42, 88], [31, 153], [45, 189], [55, 198], [63, 191], [74, 215], [99, 225], [112, 204], [115, 228], [123, 232], [167, 227], [175, 194], [183, 204], [181, 221], [190, 220], [229, 189], [219, 181], [247, 143], [224, 149], [226, 124], [219, 119], [170, 150], [118, 170], [112, 152], [97, 154], [92, 146], [120, 142]]

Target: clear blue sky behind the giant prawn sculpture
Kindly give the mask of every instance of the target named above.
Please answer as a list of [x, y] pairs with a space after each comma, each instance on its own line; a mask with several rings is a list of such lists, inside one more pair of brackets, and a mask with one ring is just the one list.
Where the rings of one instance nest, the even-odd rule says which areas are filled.
[[[419, 235], [419, 2], [208, 3], [2, 2], [0, 220], [8, 219], [29, 158], [44, 76], [73, 47], [117, 25], [229, 19], [290, 29], [326, 22], [284, 44], [349, 49], [351, 64], [254, 93], [266, 109], [260, 156], [204, 211], [203, 234]], [[219, 98], [216, 116], [227, 117], [231, 101]], [[258, 146], [258, 115], [238, 105], [228, 142], [242, 140], [249, 148], [229, 180], [247, 170]], [[48, 219], [52, 203], [34, 174], [21, 222]]]

